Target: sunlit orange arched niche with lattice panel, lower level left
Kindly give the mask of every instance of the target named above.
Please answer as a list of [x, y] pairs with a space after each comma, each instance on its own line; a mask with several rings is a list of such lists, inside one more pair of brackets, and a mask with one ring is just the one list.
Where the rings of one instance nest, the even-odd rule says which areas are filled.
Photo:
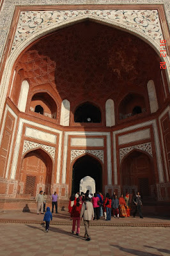
[[50, 194], [52, 160], [42, 149], [33, 150], [24, 156], [20, 168], [20, 194], [36, 196], [36, 190], [43, 189]]

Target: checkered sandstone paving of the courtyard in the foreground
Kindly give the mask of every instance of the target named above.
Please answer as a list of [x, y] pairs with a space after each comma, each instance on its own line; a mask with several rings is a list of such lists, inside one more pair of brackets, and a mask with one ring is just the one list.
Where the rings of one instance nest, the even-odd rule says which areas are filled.
[[91, 241], [71, 234], [70, 225], [1, 223], [1, 256], [170, 255], [170, 228], [91, 227]]

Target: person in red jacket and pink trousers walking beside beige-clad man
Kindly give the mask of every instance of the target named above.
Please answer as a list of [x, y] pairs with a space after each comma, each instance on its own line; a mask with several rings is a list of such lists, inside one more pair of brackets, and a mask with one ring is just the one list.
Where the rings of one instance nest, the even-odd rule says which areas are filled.
[[77, 232], [76, 232], [76, 236], [79, 236], [80, 234], [80, 226], [81, 226], [81, 207], [82, 204], [80, 204], [80, 199], [77, 198], [77, 204], [73, 205], [72, 207], [72, 212], [71, 212], [71, 217], [73, 219], [73, 226], [72, 226], [72, 234], [75, 231], [75, 223], [77, 221]]

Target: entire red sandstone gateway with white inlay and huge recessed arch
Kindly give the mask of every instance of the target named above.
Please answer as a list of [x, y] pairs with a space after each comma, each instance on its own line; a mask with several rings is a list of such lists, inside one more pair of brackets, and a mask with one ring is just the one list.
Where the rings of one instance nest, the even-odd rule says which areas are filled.
[[72, 193], [89, 189], [140, 191], [143, 212], [153, 211], [170, 200], [169, 76], [157, 46], [163, 36], [169, 48], [164, 8], [78, 5], [17, 7], [11, 20], [0, 73], [0, 207], [35, 209], [43, 190], [67, 209]]

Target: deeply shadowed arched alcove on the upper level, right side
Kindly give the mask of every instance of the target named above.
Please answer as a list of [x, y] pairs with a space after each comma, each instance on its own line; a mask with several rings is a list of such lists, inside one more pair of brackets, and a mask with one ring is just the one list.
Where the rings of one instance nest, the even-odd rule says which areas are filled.
[[138, 93], [128, 93], [128, 95], [120, 102], [118, 108], [119, 119], [127, 119], [130, 116], [145, 113], [147, 111], [145, 101], [143, 95]]

